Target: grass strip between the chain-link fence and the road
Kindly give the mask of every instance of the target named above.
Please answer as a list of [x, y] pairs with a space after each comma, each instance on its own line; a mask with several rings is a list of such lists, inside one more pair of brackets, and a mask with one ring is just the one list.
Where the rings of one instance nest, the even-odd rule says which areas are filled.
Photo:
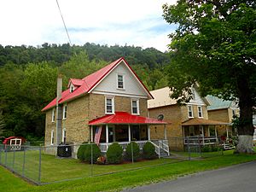
[[[162, 166], [151, 166], [134, 171], [117, 172], [114, 174], [97, 177], [86, 177], [79, 180], [52, 183], [43, 186], [34, 186], [32, 184], [28, 184], [0, 166], [0, 189], [4, 189], [4, 191], [7, 192], [118, 191], [126, 187], [134, 187], [161, 180], [174, 179], [176, 177], [195, 172], [217, 169], [251, 160], [256, 160], [256, 155], [232, 154], [232, 151], [225, 151], [224, 155], [209, 157], [203, 160], [185, 160], [183, 162], [166, 164]], [[55, 175], [55, 172], [51, 172], [51, 174]]]

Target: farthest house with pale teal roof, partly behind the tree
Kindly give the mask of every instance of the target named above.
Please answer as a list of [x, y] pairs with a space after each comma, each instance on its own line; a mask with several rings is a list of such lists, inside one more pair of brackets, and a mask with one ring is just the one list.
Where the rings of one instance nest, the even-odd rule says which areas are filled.
[[232, 127], [232, 120], [239, 116], [239, 108], [236, 102], [225, 101], [216, 96], [207, 96], [210, 105], [207, 106], [209, 119], [229, 123], [228, 126], [218, 126], [218, 135], [232, 137], [237, 135], [237, 130]]

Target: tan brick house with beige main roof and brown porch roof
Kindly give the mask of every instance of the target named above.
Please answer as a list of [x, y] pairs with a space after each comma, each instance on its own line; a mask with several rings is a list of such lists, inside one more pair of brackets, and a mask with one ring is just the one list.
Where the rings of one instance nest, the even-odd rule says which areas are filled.
[[[163, 117], [171, 121], [167, 127], [167, 139], [170, 148], [182, 149], [187, 140], [184, 137], [201, 137], [201, 143], [216, 143], [218, 141], [217, 125], [228, 125], [225, 122], [208, 119], [207, 106], [209, 102], [200, 96], [196, 87], [192, 88], [193, 98], [188, 103], [179, 105], [172, 99], [169, 87], [150, 91], [154, 99], [148, 100], [150, 118]], [[160, 136], [163, 126], [155, 125], [151, 135]]]

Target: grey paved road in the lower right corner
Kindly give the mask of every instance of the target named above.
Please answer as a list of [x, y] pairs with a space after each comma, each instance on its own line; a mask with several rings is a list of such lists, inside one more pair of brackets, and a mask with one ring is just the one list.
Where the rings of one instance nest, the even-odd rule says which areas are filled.
[[123, 192], [128, 191], [256, 192], [256, 161], [123, 190]]

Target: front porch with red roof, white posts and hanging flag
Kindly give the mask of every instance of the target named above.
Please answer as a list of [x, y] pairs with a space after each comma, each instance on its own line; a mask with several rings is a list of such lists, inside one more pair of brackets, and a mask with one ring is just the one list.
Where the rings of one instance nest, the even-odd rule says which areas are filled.
[[[142, 150], [143, 145], [150, 142], [155, 147], [155, 152], [160, 156], [164, 151], [169, 155], [168, 141], [166, 140], [166, 122], [157, 119], [131, 115], [125, 112], [105, 115], [102, 118], [91, 120], [90, 142], [97, 143], [103, 153], [108, 147], [117, 142], [124, 149], [128, 143], [134, 141]], [[151, 140], [149, 125], [164, 125], [165, 131], [162, 140]]]

